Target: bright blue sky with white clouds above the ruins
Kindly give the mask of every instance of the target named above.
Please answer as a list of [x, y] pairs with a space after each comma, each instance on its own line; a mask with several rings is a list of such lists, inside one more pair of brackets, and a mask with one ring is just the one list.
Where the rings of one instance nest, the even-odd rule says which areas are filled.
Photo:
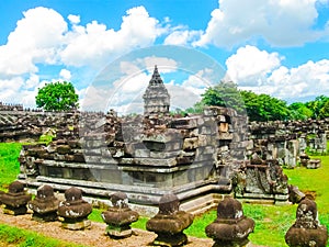
[[[329, 96], [328, 0], [2, 0], [0, 25], [0, 101], [26, 108], [68, 80], [81, 105], [111, 108], [115, 91], [116, 110], [134, 109], [154, 64], [177, 108], [222, 79], [287, 102]], [[107, 91], [97, 88], [114, 65]]]

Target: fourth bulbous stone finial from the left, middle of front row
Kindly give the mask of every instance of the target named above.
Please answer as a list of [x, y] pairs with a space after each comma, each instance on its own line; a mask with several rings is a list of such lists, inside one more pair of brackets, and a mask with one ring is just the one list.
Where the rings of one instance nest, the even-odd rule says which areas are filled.
[[128, 206], [128, 198], [123, 192], [111, 195], [112, 206], [102, 213], [103, 221], [107, 224], [106, 234], [110, 237], [129, 237], [133, 234], [131, 224], [138, 220], [138, 213]]

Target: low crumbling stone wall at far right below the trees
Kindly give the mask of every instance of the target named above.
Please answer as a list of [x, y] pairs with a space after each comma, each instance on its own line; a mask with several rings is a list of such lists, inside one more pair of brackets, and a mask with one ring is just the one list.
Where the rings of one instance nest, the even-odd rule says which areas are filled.
[[295, 167], [300, 153], [327, 153], [329, 119], [266, 122], [249, 124], [249, 139], [252, 142], [247, 156], [258, 154], [263, 159], [277, 159], [280, 165]]

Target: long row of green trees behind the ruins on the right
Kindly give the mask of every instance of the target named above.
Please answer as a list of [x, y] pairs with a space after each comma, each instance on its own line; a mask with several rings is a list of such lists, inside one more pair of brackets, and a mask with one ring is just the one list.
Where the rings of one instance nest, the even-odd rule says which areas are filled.
[[[195, 104], [195, 111], [200, 112], [201, 106], [206, 105], [232, 108], [240, 114], [247, 112], [250, 121], [260, 122], [329, 117], [329, 98], [326, 96], [288, 105], [274, 97], [239, 90], [236, 83], [223, 81], [202, 94], [202, 100]], [[188, 112], [193, 112], [193, 109]]]

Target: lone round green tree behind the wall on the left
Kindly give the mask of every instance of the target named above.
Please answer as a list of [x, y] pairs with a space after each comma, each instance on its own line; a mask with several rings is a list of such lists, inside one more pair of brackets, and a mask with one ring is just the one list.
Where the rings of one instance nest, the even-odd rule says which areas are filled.
[[46, 111], [68, 111], [78, 108], [79, 97], [71, 82], [53, 82], [38, 89], [36, 106]]

